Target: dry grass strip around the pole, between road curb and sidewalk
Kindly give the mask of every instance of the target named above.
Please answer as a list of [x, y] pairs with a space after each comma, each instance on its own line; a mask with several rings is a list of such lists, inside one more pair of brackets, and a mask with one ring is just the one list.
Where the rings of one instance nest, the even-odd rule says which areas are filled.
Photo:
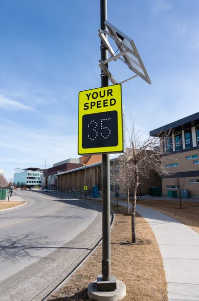
[[[148, 223], [136, 214], [137, 244], [130, 241], [131, 217], [123, 206], [111, 206], [115, 222], [111, 229], [111, 273], [126, 284], [124, 301], [166, 301], [167, 290], [162, 259]], [[87, 285], [101, 273], [99, 246], [66, 284], [49, 300], [87, 300]]]

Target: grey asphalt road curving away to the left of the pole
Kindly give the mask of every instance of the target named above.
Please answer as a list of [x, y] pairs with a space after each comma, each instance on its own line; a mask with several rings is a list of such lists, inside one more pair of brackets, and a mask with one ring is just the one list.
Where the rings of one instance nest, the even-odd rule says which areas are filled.
[[0, 212], [0, 301], [42, 300], [101, 237], [100, 204], [32, 191], [20, 196], [25, 206]]

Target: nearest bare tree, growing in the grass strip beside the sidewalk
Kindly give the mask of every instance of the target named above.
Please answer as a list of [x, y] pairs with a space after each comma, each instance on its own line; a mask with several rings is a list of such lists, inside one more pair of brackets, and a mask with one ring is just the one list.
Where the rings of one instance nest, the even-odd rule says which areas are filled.
[[[131, 120], [131, 129], [127, 130], [127, 141], [129, 143], [129, 152], [124, 155], [126, 163], [126, 171], [131, 178], [132, 187], [132, 210], [131, 210], [131, 231], [132, 242], [136, 242], [135, 231], [135, 207], [136, 207], [136, 192], [139, 185], [139, 179], [147, 179], [151, 171], [155, 171], [158, 175], [166, 175], [165, 160], [159, 146], [159, 137], [147, 137], [142, 140], [142, 136], [138, 130], [135, 132], [133, 121]], [[168, 131], [161, 138], [161, 142], [167, 137], [170, 137]]]

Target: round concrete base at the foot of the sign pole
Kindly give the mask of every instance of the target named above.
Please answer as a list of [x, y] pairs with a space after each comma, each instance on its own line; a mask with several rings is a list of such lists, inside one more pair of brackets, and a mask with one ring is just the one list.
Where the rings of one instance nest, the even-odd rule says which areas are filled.
[[116, 280], [117, 288], [115, 290], [97, 290], [96, 280], [88, 285], [88, 298], [94, 301], [118, 301], [122, 300], [126, 295], [126, 286], [120, 281]]

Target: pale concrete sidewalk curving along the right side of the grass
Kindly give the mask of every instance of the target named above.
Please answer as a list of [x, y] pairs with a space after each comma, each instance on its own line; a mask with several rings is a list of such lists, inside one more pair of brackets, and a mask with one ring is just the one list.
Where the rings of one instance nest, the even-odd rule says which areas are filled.
[[[119, 204], [126, 206], [122, 201]], [[136, 212], [146, 219], [157, 240], [166, 274], [168, 300], [198, 301], [199, 234], [157, 211], [136, 205]]]

